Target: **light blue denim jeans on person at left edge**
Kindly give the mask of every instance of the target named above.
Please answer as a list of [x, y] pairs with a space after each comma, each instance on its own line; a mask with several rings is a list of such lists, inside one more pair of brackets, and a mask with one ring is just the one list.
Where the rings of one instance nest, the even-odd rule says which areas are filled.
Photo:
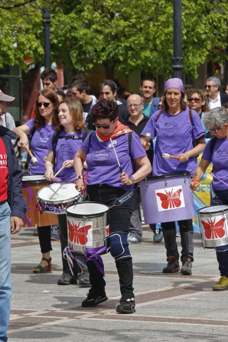
[[10, 214], [7, 202], [0, 204], [0, 342], [7, 338], [10, 314]]

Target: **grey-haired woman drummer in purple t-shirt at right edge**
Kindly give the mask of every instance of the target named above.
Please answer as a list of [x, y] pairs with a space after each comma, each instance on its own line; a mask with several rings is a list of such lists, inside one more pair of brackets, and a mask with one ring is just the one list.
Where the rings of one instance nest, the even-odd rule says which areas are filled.
[[[228, 112], [224, 107], [210, 110], [204, 119], [205, 127], [214, 136], [206, 145], [199, 167], [196, 169], [196, 184], [191, 183], [195, 191], [212, 162], [214, 178], [211, 183], [210, 205], [228, 205]], [[218, 177], [218, 178], [217, 178]], [[213, 290], [228, 288], [228, 245], [216, 247], [221, 278]]]

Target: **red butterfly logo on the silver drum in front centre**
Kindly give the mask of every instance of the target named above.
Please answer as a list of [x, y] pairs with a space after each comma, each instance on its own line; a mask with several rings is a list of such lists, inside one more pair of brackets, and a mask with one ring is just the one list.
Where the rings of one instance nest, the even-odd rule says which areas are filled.
[[[68, 226], [68, 238], [71, 243], [77, 244], [77, 245], [86, 245], [91, 246], [92, 245], [92, 222], [86, 222], [91, 223], [86, 226], [81, 225], [81, 221], [77, 224], [77, 222], [70, 223], [69, 220], [67, 220], [67, 226]], [[91, 234], [90, 234], [91, 232]]]

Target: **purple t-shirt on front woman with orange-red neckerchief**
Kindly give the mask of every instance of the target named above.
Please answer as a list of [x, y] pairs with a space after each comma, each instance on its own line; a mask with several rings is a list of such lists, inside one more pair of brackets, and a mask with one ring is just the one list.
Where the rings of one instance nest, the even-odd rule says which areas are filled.
[[[86, 154], [88, 166], [86, 184], [107, 184], [111, 187], [122, 188], [125, 191], [132, 191], [134, 186], [125, 186], [121, 183], [120, 169], [110, 141], [104, 142], [100, 140], [94, 132], [91, 136], [90, 144], [88, 136], [83, 142], [82, 149]], [[130, 176], [133, 170], [128, 148], [128, 134], [123, 134], [112, 139], [112, 141], [123, 172]], [[133, 160], [146, 156], [140, 138], [135, 132], [132, 132], [131, 156]]]

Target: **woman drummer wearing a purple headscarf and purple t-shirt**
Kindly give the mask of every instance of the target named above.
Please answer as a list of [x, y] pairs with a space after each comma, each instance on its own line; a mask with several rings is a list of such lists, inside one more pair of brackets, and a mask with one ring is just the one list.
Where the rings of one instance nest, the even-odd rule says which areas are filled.
[[[149, 132], [151, 138], [157, 137], [152, 171], [153, 175], [177, 172], [191, 172], [196, 169], [196, 156], [205, 148], [205, 132], [197, 112], [189, 111], [184, 102], [185, 93], [182, 80], [172, 78], [165, 84], [164, 109], [156, 111], [144, 130], [142, 143], [145, 149], [145, 134]], [[196, 142], [196, 146], [194, 147]], [[165, 159], [163, 153], [178, 156], [177, 159]], [[154, 205], [151, 203], [151, 205]], [[192, 219], [178, 221], [181, 234], [181, 273], [190, 275], [193, 260], [193, 226]], [[167, 265], [164, 273], [180, 270], [179, 253], [176, 243], [175, 221], [161, 223], [165, 240]]]

